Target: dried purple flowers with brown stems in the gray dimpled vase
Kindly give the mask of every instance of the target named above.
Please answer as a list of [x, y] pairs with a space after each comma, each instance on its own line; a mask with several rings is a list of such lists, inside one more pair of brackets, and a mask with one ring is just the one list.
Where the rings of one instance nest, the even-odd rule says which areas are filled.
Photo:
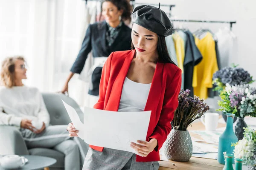
[[203, 116], [209, 110], [209, 106], [204, 103], [204, 99], [198, 96], [189, 96], [190, 90], [180, 90], [178, 96], [179, 105], [174, 112], [172, 126], [176, 130], [187, 130], [187, 127], [196, 119]]

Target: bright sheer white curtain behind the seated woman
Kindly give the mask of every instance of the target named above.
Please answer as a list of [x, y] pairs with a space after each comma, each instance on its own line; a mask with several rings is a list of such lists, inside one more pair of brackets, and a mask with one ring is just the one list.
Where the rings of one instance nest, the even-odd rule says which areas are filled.
[[[97, 2], [87, 6], [100, 8]], [[84, 0], [1, 0], [0, 60], [22, 55], [28, 64], [24, 83], [42, 92], [61, 91], [81, 48]], [[87, 85], [70, 81], [70, 96], [83, 106]]]

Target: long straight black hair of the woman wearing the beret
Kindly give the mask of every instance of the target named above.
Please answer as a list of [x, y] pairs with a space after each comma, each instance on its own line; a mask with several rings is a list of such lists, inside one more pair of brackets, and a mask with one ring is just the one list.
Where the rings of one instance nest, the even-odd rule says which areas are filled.
[[[133, 49], [133, 50], [135, 49], [132, 42], [131, 42], [131, 49]], [[165, 40], [164, 36], [158, 35], [157, 53], [159, 56], [159, 59], [158, 59], [159, 62], [175, 64], [175, 62], [172, 61], [172, 59], [169, 55], [167, 45], [166, 45], [166, 40]]]

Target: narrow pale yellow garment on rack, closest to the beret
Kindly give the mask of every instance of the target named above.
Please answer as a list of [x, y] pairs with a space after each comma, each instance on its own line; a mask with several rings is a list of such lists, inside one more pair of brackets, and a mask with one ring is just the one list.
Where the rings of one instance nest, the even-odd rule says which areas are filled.
[[180, 35], [177, 32], [175, 32], [172, 35], [172, 38], [175, 45], [177, 64], [178, 67], [181, 69], [181, 72], [183, 73], [183, 63], [185, 58], [184, 40], [180, 37]]

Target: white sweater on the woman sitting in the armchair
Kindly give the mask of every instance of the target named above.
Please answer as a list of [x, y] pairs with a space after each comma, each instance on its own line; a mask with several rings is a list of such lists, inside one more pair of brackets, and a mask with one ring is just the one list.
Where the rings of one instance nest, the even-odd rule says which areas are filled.
[[0, 88], [0, 125], [20, 127], [22, 119], [40, 120], [49, 125], [50, 116], [37, 88]]

